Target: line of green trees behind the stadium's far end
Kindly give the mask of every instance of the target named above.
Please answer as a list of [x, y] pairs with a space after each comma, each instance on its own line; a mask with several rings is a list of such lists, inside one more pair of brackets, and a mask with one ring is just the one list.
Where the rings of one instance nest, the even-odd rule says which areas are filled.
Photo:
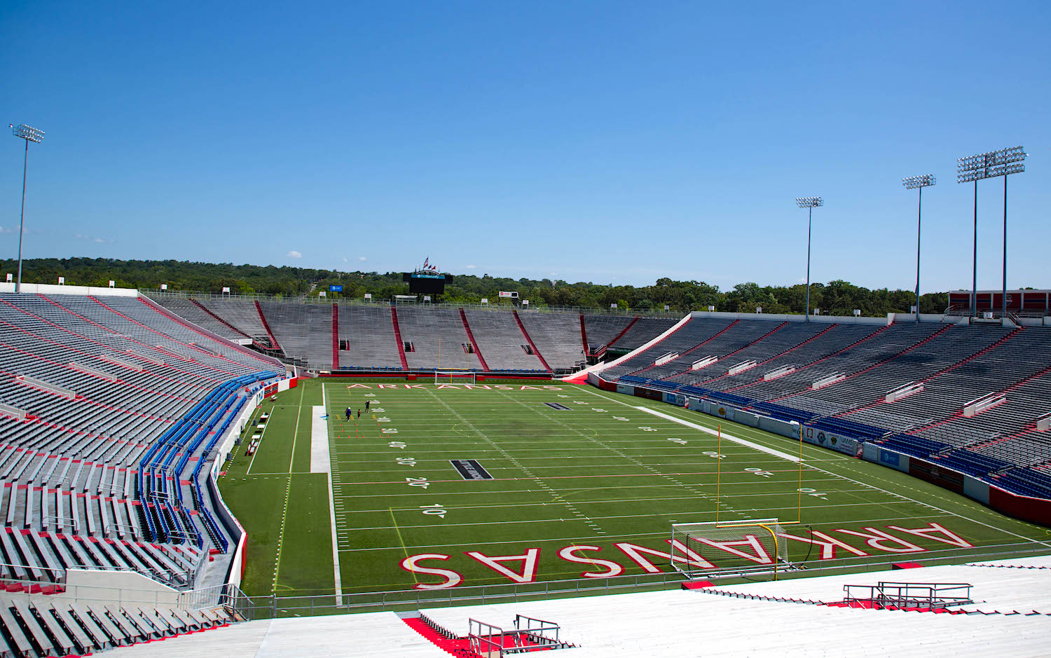
[[[0, 261], [0, 271], [14, 273], [14, 260]], [[273, 265], [234, 265], [232, 263], [192, 263], [188, 261], [121, 261], [116, 259], [33, 259], [23, 261], [22, 281], [25, 283], [58, 283], [64, 276], [68, 285], [107, 286], [110, 280], [120, 288], [158, 289], [167, 284], [169, 290], [220, 293], [224, 287], [233, 294], [267, 294], [283, 297], [317, 296], [325, 291], [333, 301], [362, 300], [371, 293], [376, 301], [392, 300], [408, 294], [409, 286], [400, 272], [339, 272], [306, 267]], [[343, 286], [343, 292], [329, 291], [330, 285]], [[761, 307], [764, 313], [803, 313], [806, 308], [806, 286], [760, 286], [742, 283], [730, 290], [703, 281], [659, 279], [652, 286], [612, 286], [594, 283], [568, 283], [551, 279], [507, 279], [473, 274], [455, 274], [446, 293], [435, 302], [448, 304], [511, 304], [498, 297], [499, 291], [517, 292], [519, 300], [529, 300], [531, 307], [560, 306], [589, 309], [681, 313], [705, 310], [747, 312]], [[948, 303], [945, 292], [928, 293], [920, 300], [924, 313], [941, 313]], [[907, 313], [915, 303], [911, 290], [869, 289], [846, 281], [810, 285], [810, 307], [822, 314], [851, 315], [859, 309], [862, 315], [882, 316], [888, 312]]]

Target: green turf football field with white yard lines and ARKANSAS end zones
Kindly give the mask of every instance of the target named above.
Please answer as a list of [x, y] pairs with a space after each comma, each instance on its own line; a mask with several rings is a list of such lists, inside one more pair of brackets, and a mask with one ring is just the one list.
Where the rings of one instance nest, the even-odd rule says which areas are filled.
[[[321, 405], [331, 492], [310, 472]], [[344, 420], [348, 406], [362, 417]], [[719, 444], [676, 421], [716, 430], [712, 416], [589, 386], [311, 379], [256, 413], [271, 414], [259, 450], [245, 440], [220, 479], [248, 532], [250, 595], [669, 572], [671, 523], [715, 520], [717, 493], [721, 521], [799, 520], [780, 540], [811, 568], [1051, 553], [1045, 529], [903, 473], [807, 445], [800, 475], [799, 443], [723, 421], [753, 445]], [[457, 459], [492, 479], [465, 479]], [[717, 568], [744, 559], [703, 548]]]

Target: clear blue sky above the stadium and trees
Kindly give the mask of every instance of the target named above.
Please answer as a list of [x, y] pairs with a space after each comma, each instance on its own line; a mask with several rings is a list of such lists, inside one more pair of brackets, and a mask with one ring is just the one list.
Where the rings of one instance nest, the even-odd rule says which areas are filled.
[[[179, 8], [174, 8], [179, 5]], [[726, 289], [971, 281], [955, 160], [1024, 145], [1009, 287], [1051, 288], [1048, 2], [48, 2], [0, 11], [25, 256]], [[23, 142], [0, 141], [0, 252]], [[978, 191], [1000, 288], [1003, 179]]]

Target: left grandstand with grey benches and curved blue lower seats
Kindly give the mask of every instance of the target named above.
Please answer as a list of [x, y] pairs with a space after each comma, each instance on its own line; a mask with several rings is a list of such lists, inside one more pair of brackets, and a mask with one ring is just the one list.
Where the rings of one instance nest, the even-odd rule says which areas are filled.
[[0, 403], [24, 412], [0, 414], [4, 589], [70, 568], [192, 587], [228, 548], [204, 467], [277, 364], [120, 296], [0, 294]]

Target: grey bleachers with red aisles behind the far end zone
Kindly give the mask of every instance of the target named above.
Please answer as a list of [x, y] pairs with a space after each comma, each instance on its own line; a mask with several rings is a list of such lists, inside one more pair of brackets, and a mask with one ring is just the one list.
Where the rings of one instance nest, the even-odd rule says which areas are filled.
[[[232, 341], [250, 337], [256, 347], [269, 348], [272, 346], [262, 322], [265, 317], [286, 359], [310, 369], [333, 369], [331, 308], [328, 304], [271, 300], [259, 302], [257, 311], [255, 302], [236, 297], [160, 294], [158, 302], [219, 335]], [[476, 354], [463, 353], [463, 346], [471, 341], [463, 321], [456, 322], [460, 310], [471, 328], [474, 349], [486, 359], [491, 372], [539, 374], [578, 370], [586, 361], [581, 323], [590, 344], [589, 352], [594, 353], [611, 343], [615, 343], [617, 348], [634, 349], [677, 322], [677, 318], [634, 315], [398, 306], [400, 347], [404, 349], [404, 344], [410, 343], [414, 348], [406, 353], [406, 366], [410, 370], [483, 369]], [[339, 304], [337, 313], [336, 345], [342, 341], [349, 347], [338, 352], [339, 369], [403, 369], [391, 307], [384, 304]], [[455, 346], [461, 354], [444, 349], [441, 363], [438, 363], [439, 337], [444, 348]]]

